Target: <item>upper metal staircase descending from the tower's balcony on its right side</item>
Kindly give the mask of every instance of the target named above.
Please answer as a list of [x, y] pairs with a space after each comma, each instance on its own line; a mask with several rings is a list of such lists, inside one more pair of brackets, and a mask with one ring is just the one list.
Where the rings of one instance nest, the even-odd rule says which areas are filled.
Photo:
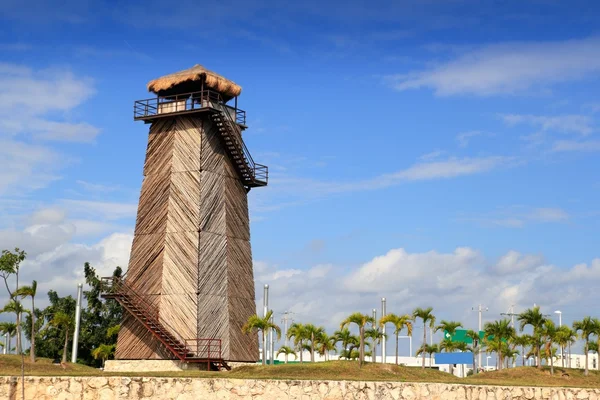
[[225, 150], [233, 162], [242, 183], [247, 188], [266, 186], [268, 181], [268, 168], [266, 165], [257, 164], [252, 159], [244, 140], [239, 125], [234, 121], [227, 106], [216, 104], [215, 112], [210, 118], [215, 124]]

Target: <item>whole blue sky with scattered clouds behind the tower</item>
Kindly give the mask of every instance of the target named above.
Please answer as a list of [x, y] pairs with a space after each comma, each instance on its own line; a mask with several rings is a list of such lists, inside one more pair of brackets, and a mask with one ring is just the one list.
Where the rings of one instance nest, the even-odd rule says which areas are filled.
[[478, 302], [593, 313], [596, 2], [2, 8], [0, 247], [29, 252], [42, 290], [126, 265], [148, 130], [133, 101], [200, 63], [243, 87], [270, 167], [249, 196], [277, 312], [334, 327], [386, 296], [471, 326]]

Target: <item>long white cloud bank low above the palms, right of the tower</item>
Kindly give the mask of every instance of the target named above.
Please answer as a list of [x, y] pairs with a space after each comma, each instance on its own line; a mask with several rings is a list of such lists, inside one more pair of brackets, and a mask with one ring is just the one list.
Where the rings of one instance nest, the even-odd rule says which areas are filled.
[[[561, 268], [548, 264], [541, 254], [515, 250], [491, 260], [470, 247], [419, 253], [397, 248], [358, 266], [331, 265], [321, 270], [316, 265], [280, 275], [277, 281], [268, 278], [289, 268], [260, 264], [256, 285], [270, 284], [276, 312], [292, 311], [294, 320], [324, 325], [330, 331], [352, 312], [379, 308], [381, 297], [387, 299], [388, 312], [410, 313], [415, 307], [432, 306], [438, 320], [459, 320], [467, 328], [476, 327], [477, 314], [471, 308], [479, 303], [489, 307], [484, 322], [502, 318], [500, 313], [511, 305], [520, 312], [537, 303], [546, 313], [560, 306], [563, 322], [570, 323], [589, 314], [582, 301], [600, 300], [595, 291], [600, 284], [600, 258]], [[315, 274], [315, 269], [322, 273]], [[261, 294], [257, 292], [258, 305]]]

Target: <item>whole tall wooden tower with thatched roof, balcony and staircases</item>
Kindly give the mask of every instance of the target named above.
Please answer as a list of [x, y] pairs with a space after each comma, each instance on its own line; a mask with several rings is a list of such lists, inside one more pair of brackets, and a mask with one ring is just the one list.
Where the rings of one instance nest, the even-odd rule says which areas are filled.
[[256, 362], [258, 338], [241, 332], [256, 313], [247, 194], [268, 171], [242, 139], [241, 87], [196, 65], [148, 90], [134, 104], [150, 133], [129, 268], [105, 295], [127, 311], [116, 358]]

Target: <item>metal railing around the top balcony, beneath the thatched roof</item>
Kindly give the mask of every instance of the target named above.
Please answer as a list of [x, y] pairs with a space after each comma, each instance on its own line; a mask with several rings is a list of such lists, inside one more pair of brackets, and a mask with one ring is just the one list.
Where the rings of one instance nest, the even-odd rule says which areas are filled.
[[136, 100], [133, 103], [133, 119], [148, 119], [159, 115], [185, 113], [204, 108], [225, 107], [235, 122], [246, 125], [246, 111], [225, 104], [221, 94], [214, 90], [182, 93], [173, 96], [157, 96], [151, 99]]

